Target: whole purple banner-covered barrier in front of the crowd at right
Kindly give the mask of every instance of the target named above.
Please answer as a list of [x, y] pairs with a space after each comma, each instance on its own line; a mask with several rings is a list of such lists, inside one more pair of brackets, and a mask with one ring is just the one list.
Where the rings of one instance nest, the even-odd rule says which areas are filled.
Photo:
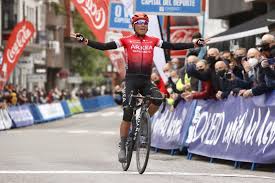
[[275, 163], [275, 93], [245, 99], [181, 102], [152, 118], [152, 146], [252, 163]]

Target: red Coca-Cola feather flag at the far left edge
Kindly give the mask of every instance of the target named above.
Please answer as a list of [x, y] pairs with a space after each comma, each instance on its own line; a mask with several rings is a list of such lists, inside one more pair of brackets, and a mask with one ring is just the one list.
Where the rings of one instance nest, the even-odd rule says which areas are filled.
[[32, 23], [25, 20], [19, 22], [12, 30], [4, 50], [3, 62], [0, 65], [0, 90], [9, 79], [34, 32], [35, 28]]

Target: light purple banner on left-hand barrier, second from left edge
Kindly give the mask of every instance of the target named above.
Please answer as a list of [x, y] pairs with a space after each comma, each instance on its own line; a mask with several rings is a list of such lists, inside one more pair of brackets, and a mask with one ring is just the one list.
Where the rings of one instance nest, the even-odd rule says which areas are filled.
[[15, 127], [30, 126], [34, 123], [34, 118], [27, 105], [9, 107], [8, 112]]

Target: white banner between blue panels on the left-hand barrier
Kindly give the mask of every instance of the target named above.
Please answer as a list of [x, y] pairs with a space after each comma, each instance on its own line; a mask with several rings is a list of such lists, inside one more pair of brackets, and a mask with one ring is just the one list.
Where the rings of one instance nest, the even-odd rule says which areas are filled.
[[61, 103], [37, 105], [37, 108], [46, 121], [65, 117]]

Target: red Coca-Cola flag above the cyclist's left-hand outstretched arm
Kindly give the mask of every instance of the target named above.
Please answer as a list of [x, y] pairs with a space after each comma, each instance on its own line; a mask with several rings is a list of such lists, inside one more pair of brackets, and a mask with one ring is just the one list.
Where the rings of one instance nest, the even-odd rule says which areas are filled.
[[110, 0], [72, 0], [97, 40], [105, 41]]

